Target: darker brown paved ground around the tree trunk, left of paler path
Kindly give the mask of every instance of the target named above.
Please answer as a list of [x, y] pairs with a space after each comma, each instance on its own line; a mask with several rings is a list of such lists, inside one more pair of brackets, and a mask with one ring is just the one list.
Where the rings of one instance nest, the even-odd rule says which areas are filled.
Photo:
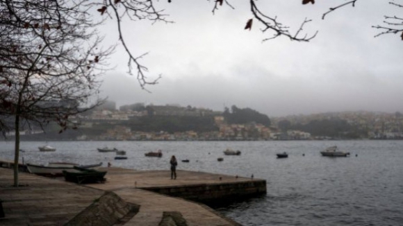
[[13, 185], [13, 170], [0, 168], [0, 199], [5, 218], [0, 225], [64, 225], [99, 198], [104, 191], [60, 180], [19, 173]]

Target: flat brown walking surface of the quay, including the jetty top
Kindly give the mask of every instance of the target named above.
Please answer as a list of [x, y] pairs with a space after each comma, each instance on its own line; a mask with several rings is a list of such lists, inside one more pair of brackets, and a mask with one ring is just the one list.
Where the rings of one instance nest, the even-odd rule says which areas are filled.
[[14, 188], [11, 186], [13, 171], [0, 168], [0, 199], [3, 200], [6, 214], [6, 218], [0, 218], [0, 225], [63, 225], [106, 190], [117, 193], [126, 202], [140, 205], [138, 214], [125, 225], [156, 226], [161, 221], [163, 211], [180, 211], [190, 226], [238, 225], [205, 205], [140, 188], [250, 180], [190, 171], [178, 171], [177, 180], [170, 180], [169, 171], [133, 171], [124, 168], [100, 170], [108, 171], [104, 184], [79, 186], [63, 180], [19, 173], [19, 184], [22, 186]]

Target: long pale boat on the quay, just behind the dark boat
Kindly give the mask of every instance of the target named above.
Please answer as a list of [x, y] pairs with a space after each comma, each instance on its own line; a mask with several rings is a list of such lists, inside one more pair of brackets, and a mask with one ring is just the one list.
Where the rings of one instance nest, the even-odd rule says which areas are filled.
[[79, 172], [79, 170], [74, 169], [74, 166], [79, 166], [80, 168], [98, 168], [102, 166], [102, 162], [99, 164], [91, 164], [91, 165], [79, 165], [68, 162], [49, 162], [47, 166], [44, 165], [35, 165], [35, 164], [26, 164], [26, 168], [28, 168], [29, 173], [34, 173], [37, 175], [46, 175], [46, 176], [63, 176], [63, 171], [69, 172]]

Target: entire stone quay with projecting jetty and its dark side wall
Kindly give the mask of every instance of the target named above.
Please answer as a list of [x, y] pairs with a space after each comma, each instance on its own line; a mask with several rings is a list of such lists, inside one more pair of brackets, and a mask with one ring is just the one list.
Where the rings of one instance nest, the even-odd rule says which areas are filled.
[[177, 171], [177, 179], [171, 180], [170, 171], [113, 167], [99, 170], [108, 171], [104, 183], [79, 185], [19, 173], [21, 186], [15, 188], [11, 186], [13, 170], [0, 168], [4, 213], [0, 225], [154, 226], [176, 213], [186, 225], [231, 226], [239, 224], [190, 200], [220, 200], [266, 192], [265, 180], [231, 175]]

